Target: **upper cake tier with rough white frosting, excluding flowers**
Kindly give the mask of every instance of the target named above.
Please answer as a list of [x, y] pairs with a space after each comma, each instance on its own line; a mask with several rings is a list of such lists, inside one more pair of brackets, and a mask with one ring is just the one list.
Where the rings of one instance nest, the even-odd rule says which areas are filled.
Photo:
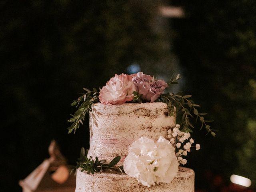
[[176, 116], [168, 116], [165, 103], [96, 103], [90, 112], [90, 150], [88, 157], [97, 156], [107, 162], [120, 155], [122, 165], [128, 146], [141, 136], [158, 140], [167, 138], [167, 130], [176, 124]]

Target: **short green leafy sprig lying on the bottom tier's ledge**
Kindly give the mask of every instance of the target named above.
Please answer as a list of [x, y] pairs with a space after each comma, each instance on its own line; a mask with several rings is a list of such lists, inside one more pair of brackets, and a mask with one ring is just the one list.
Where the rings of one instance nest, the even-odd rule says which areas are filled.
[[95, 157], [95, 160], [93, 160], [92, 157], [87, 158], [87, 153], [85, 149], [82, 148], [75, 169], [81, 168], [80, 171], [86, 171], [87, 174], [94, 174], [95, 172], [102, 172], [104, 170], [118, 170], [123, 173], [124, 168], [122, 166], [116, 166], [120, 159], [120, 156], [116, 156], [110, 163], [106, 164], [106, 160], [99, 160], [98, 157]]

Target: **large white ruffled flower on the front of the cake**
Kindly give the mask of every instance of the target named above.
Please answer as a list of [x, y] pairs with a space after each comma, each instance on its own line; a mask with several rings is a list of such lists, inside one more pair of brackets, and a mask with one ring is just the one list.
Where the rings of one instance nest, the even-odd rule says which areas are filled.
[[154, 140], [141, 137], [134, 141], [124, 159], [124, 171], [144, 186], [159, 182], [170, 183], [178, 173], [175, 149], [168, 140], [160, 136]]

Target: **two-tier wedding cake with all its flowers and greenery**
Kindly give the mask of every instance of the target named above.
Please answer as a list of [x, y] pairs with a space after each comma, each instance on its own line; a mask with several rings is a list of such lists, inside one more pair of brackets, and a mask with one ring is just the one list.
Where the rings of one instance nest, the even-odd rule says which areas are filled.
[[[75, 192], [194, 192], [194, 171], [180, 166], [192, 148], [200, 149], [190, 138], [187, 106], [214, 132], [191, 95], [164, 94], [167, 86], [139, 72], [115, 75], [100, 92], [84, 88], [86, 94], [72, 103], [78, 110], [68, 128], [76, 131], [90, 114], [90, 149], [81, 150]], [[182, 129], [176, 124], [180, 107]]]

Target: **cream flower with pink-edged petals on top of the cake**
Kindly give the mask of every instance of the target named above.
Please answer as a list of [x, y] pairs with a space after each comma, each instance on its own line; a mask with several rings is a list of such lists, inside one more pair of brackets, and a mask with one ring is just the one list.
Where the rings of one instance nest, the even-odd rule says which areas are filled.
[[100, 90], [99, 99], [102, 104], [125, 103], [133, 100], [133, 91], [136, 91], [136, 86], [132, 82], [132, 76], [116, 74]]

